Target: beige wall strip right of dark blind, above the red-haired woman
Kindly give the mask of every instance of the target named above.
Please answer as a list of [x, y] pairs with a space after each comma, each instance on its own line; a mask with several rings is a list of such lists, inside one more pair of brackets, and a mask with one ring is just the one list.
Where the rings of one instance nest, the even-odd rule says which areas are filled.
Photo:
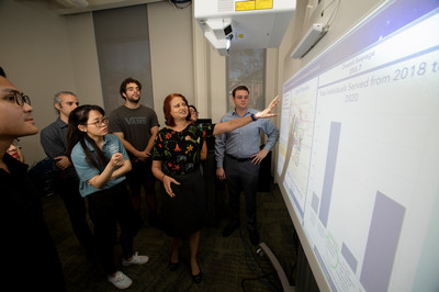
[[149, 44], [155, 110], [165, 126], [164, 100], [170, 93], [194, 101], [192, 10], [169, 2], [148, 4]]

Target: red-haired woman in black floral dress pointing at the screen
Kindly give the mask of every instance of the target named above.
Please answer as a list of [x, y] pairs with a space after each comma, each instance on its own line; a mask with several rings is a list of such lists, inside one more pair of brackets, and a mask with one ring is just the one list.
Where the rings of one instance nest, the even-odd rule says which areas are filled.
[[172, 252], [169, 268], [175, 271], [179, 263], [181, 239], [189, 240], [190, 265], [193, 281], [201, 282], [201, 269], [196, 261], [200, 229], [204, 223], [204, 179], [200, 171], [200, 151], [203, 142], [245, 126], [258, 119], [271, 117], [271, 110], [279, 103], [274, 98], [270, 105], [257, 114], [226, 123], [203, 125], [191, 123], [187, 99], [179, 93], [169, 94], [164, 102], [166, 127], [156, 137], [153, 150], [153, 173], [162, 182], [161, 198], [166, 233], [171, 237]]

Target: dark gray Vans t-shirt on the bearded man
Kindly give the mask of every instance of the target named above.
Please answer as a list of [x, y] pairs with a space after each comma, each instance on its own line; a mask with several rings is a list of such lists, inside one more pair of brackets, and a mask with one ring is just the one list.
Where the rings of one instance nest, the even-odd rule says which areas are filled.
[[134, 148], [142, 151], [148, 145], [150, 128], [160, 126], [156, 112], [145, 105], [128, 109], [122, 105], [110, 114], [109, 132], [122, 132]]

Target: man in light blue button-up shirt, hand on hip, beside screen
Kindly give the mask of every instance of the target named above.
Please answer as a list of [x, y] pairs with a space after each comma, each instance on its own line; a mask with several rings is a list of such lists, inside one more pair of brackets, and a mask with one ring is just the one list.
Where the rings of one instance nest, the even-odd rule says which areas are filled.
[[[249, 90], [238, 86], [233, 90], [235, 110], [225, 114], [221, 122], [251, 115], [258, 111], [249, 109]], [[268, 136], [260, 149], [260, 131]], [[246, 126], [216, 136], [216, 177], [226, 180], [232, 210], [232, 221], [225, 227], [223, 236], [229, 236], [239, 227], [239, 194], [246, 198], [246, 222], [252, 245], [259, 244], [256, 220], [256, 192], [258, 189], [260, 162], [270, 153], [279, 139], [279, 130], [269, 119], [260, 119]]]

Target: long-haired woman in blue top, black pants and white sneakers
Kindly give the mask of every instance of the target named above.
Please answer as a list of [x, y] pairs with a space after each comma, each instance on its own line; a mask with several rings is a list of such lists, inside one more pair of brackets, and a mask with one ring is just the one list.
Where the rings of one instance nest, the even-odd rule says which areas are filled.
[[147, 256], [133, 255], [136, 233], [134, 211], [125, 184], [131, 162], [120, 138], [108, 134], [105, 112], [98, 105], [81, 105], [69, 115], [67, 153], [80, 179], [79, 191], [87, 198], [94, 225], [97, 252], [108, 280], [119, 289], [133, 281], [114, 262], [117, 222], [121, 227], [123, 266], [143, 265]]

